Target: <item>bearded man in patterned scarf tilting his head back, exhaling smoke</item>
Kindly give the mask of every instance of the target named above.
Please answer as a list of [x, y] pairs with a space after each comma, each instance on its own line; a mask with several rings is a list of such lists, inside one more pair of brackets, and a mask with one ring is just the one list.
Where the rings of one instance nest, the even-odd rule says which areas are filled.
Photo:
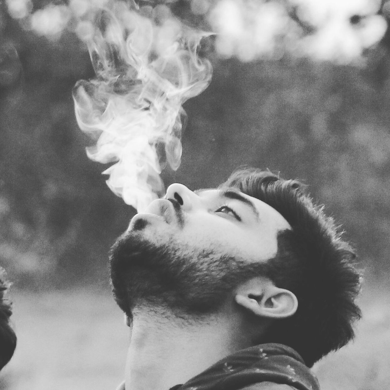
[[355, 254], [297, 181], [239, 170], [172, 184], [113, 245], [131, 339], [127, 390], [315, 390], [311, 367], [353, 338]]

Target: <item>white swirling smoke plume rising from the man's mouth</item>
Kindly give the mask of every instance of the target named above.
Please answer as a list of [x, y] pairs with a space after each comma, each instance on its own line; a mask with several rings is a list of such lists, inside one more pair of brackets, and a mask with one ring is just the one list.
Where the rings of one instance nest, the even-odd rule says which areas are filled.
[[95, 15], [87, 43], [97, 77], [79, 81], [73, 98], [80, 128], [96, 139], [89, 158], [114, 163], [103, 172], [108, 186], [141, 211], [164, 191], [166, 163], [180, 165], [182, 105], [209, 85], [211, 65], [197, 55], [205, 33], [135, 8]]

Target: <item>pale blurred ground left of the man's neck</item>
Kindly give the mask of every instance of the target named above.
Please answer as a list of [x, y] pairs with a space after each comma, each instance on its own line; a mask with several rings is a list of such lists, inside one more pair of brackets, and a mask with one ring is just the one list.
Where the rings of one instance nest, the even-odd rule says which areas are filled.
[[18, 346], [0, 389], [103, 390], [121, 382], [128, 328], [110, 292], [13, 291]]

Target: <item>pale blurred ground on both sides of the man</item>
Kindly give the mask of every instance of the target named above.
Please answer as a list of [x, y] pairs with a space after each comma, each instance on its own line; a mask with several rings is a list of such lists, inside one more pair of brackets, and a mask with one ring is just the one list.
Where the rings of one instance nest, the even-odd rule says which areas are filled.
[[[13, 291], [18, 347], [0, 376], [7, 390], [114, 390], [123, 378], [128, 331], [110, 293]], [[353, 344], [314, 366], [321, 390], [390, 388], [390, 294], [361, 297]]]

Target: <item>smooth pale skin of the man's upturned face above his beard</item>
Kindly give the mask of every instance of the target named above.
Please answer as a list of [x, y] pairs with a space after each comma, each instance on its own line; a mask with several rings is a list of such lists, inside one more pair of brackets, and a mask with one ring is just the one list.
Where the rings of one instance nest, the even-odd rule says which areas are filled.
[[234, 188], [193, 192], [176, 183], [164, 199], [135, 215], [128, 231], [139, 227], [157, 245], [198, 247], [258, 262], [277, 253], [277, 233], [289, 224], [268, 204]]

